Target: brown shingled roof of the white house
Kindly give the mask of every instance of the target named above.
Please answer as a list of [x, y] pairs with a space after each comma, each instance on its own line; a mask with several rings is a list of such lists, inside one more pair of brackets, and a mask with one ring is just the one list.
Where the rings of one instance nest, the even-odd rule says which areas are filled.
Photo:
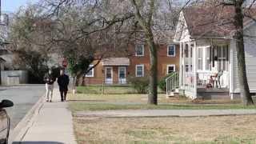
[[[246, 14], [255, 15], [256, 10], [245, 10]], [[234, 6], [187, 7], [183, 10], [187, 28], [192, 38], [195, 37], [230, 37], [235, 30]], [[244, 18], [244, 24], [251, 19]]]

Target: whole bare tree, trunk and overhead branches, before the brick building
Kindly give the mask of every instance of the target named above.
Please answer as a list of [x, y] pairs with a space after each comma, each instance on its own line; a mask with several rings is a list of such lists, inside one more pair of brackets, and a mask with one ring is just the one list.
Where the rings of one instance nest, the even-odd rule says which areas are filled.
[[[72, 30], [79, 35], [79, 38], [88, 38], [98, 34], [100, 31], [107, 34], [114, 34], [119, 38], [118, 43], [146, 42], [150, 49], [150, 90], [149, 104], [158, 104], [158, 44], [162, 30], [174, 30], [178, 14], [172, 14], [170, 9], [173, 3], [170, 1], [135, 1], [135, 0], [82, 0], [79, 3], [74, 0], [47, 0], [44, 2], [47, 7], [47, 14], [51, 18], [61, 18], [70, 7], [75, 10], [84, 10], [80, 15], [86, 19], [79, 30]], [[118, 5], [118, 6], [117, 6]], [[69, 7], [68, 9], [66, 9]], [[162, 13], [164, 11], [164, 13]], [[169, 11], [169, 13], [166, 13]], [[178, 10], [176, 10], [177, 12]], [[162, 16], [160, 13], [165, 14]], [[171, 17], [168, 17], [168, 14]], [[167, 21], [169, 20], [169, 21]], [[171, 25], [171, 26], [170, 26]], [[114, 32], [114, 33], [113, 33]], [[160, 33], [159, 33], [160, 32]], [[70, 38], [74, 38], [72, 35]], [[111, 42], [108, 41], [109, 45]], [[113, 42], [112, 42], [113, 43]], [[116, 45], [117, 42], [114, 42]]]

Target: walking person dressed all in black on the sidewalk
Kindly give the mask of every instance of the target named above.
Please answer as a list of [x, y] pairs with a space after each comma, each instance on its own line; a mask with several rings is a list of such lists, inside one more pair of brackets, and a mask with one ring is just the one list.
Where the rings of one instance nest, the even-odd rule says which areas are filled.
[[70, 78], [64, 74], [64, 70], [60, 70], [60, 76], [58, 77], [59, 92], [61, 93], [62, 102], [66, 101], [66, 94], [68, 91], [68, 85]]

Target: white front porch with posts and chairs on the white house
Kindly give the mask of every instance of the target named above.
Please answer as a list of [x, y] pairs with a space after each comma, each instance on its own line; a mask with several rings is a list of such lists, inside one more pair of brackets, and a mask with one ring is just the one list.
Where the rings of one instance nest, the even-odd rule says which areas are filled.
[[179, 88], [187, 97], [230, 98], [228, 42], [180, 42]]

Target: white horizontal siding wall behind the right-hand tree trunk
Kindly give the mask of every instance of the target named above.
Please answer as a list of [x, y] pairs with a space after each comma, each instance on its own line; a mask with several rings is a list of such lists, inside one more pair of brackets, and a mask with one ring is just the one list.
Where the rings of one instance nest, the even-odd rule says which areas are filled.
[[[254, 36], [256, 33], [256, 26], [250, 26], [245, 30], [246, 35]], [[245, 56], [246, 56], [246, 74], [247, 80], [250, 87], [251, 93], [256, 93], [256, 39], [245, 37]], [[235, 50], [234, 41], [231, 42], [231, 48], [233, 48], [233, 92], [239, 93], [239, 82], [238, 82], [238, 62], [237, 62], [237, 52]]]

